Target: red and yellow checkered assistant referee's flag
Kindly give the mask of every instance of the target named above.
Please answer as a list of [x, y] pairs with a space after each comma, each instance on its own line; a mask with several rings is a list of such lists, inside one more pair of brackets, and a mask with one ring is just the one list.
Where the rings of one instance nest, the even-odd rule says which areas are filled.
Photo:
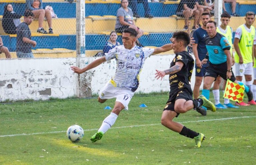
[[236, 84], [228, 79], [223, 97], [241, 103], [244, 99], [244, 89], [244, 85]]

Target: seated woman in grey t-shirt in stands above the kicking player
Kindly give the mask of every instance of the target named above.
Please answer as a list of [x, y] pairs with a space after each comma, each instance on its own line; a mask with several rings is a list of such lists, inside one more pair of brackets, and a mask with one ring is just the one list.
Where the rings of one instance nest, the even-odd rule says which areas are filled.
[[128, 7], [128, 0], [121, 0], [121, 7], [117, 10], [115, 31], [123, 33], [124, 29], [132, 28], [138, 33], [137, 39], [143, 35], [143, 31], [135, 26], [132, 9]]

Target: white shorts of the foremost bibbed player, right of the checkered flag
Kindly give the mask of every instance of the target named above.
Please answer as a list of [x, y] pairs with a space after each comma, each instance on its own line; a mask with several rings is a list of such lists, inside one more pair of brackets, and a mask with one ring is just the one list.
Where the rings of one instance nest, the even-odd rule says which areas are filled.
[[250, 63], [235, 63], [235, 76], [252, 75], [252, 62]]

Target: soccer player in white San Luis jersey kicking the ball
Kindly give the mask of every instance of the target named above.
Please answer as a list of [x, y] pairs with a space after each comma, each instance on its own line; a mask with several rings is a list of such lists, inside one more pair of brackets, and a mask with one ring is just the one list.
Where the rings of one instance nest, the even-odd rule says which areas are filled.
[[104, 103], [108, 99], [116, 98], [115, 106], [110, 115], [106, 117], [99, 130], [91, 137], [91, 141], [100, 140], [103, 134], [115, 123], [119, 113], [126, 109], [139, 86], [139, 75], [145, 60], [150, 55], [172, 50], [172, 44], [165, 44], [157, 48], [146, 48], [135, 45], [137, 32], [132, 28], [123, 31], [123, 45], [119, 45], [105, 53], [105, 56], [94, 60], [85, 68], [71, 66], [71, 69], [78, 74], [97, 67], [101, 63], [115, 59], [117, 68], [115, 75], [100, 91], [98, 102]]

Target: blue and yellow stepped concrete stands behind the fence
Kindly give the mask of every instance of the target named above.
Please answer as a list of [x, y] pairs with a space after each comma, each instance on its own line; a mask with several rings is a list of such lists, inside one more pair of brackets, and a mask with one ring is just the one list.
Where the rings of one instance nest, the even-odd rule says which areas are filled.
[[[7, 3], [14, 4], [16, 13], [22, 14], [25, 10], [25, 0], [0, 0], [0, 15], [4, 11]], [[169, 42], [172, 33], [184, 26], [184, 19], [175, 16], [175, 11], [179, 1], [167, 1], [164, 3], [149, 3], [152, 19], [137, 18], [136, 25], [145, 31], [140, 38], [140, 42], [145, 46], [160, 46]], [[43, 0], [43, 7], [51, 5], [58, 18], [52, 19], [54, 34], [39, 34], [36, 32], [38, 21], [34, 20], [30, 25], [32, 38], [37, 41], [34, 53], [35, 57], [51, 57], [50, 53], [63, 54], [63, 57], [75, 56], [76, 49], [76, 3], [68, 3], [64, 0]], [[231, 12], [231, 4], [225, 4], [228, 12]], [[85, 25], [86, 25], [86, 56], [93, 56], [102, 50], [103, 45], [109, 38], [109, 33], [114, 30], [116, 11], [120, 7], [117, 0], [91, 0], [85, 1]], [[17, 9], [17, 10], [16, 10]], [[68, 11], [67, 11], [68, 9]], [[142, 4], [138, 4], [139, 15], [144, 16]], [[256, 1], [237, 0], [237, 14], [244, 16], [247, 11], [256, 13]], [[212, 18], [213, 19], [213, 18]], [[244, 17], [232, 17], [230, 26], [235, 31], [237, 27], [244, 23]], [[2, 18], [0, 16], [0, 24]], [[256, 22], [254, 23], [254, 26]], [[44, 21], [44, 28], [48, 29], [47, 22]], [[0, 35], [9, 48], [13, 57], [16, 50], [16, 36], [7, 35], [0, 26]], [[65, 41], [65, 42], [64, 42]], [[118, 37], [121, 42], [121, 37]], [[53, 57], [53, 56], [52, 56]], [[55, 57], [61, 57], [57, 55]], [[5, 58], [0, 54], [0, 58]]]

